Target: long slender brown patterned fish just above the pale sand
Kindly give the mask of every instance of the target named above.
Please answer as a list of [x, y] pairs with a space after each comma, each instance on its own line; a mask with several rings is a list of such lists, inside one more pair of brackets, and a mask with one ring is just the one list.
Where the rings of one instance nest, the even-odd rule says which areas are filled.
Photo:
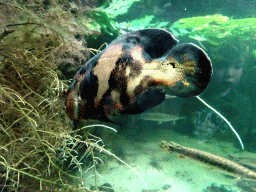
[[256, 172], [223, 157], [198, 149], [184, 147], [172, 141], [170, 143], [162, 141], [159, 146], [166, 152], [177, 152], [201, 163], [210, 165], [211, 167], [218, 168], [221, 171], [225, 171], [230, 175], [238, 176], [243, 179], [256, 180]]

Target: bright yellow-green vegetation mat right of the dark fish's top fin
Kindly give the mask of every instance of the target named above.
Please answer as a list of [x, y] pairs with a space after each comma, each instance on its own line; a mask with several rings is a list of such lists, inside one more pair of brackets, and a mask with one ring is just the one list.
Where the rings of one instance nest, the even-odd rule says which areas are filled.
[[216, 46], [235, 39], [252, 41], [256, 38], [255, 22], [256, 18], [233, 19], [217, 14], [180, 19], [170, 30], [175, 36], [207, 41]]

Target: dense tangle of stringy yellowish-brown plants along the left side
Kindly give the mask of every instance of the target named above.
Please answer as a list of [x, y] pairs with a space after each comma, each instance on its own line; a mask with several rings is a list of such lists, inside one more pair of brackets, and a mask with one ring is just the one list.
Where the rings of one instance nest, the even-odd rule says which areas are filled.
[[76, 154], [92, 152], [96, 138], [73, 131], [61, 96], [89, 58], [77, 36], [111, 31], [109, 22], [66, 0], [0, 2], [0, 190], [89, 191], [68, 167], [85, 171]]

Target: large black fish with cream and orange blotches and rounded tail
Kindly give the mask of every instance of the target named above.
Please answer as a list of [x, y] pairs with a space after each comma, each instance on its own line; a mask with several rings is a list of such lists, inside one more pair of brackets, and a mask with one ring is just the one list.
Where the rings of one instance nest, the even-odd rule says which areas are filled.
[[89, 60], [67, 90], [68, 114], [100, 119], [141, 113], [164, 101], [166, 91], [181, 97], [207, 87], [211, 61], [198, 46], [177, 45], [163, 29], [143, 29], [118, 37]]

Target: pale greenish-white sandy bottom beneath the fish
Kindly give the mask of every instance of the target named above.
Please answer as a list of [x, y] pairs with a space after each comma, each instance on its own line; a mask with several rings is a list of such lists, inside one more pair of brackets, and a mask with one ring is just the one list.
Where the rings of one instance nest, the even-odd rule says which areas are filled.
[[[196, 139], [180, 136], [170, 130], [158, 134], [145, 137], [147, 142], [133, 142], [130, 146], [124, 147], [124, 161], [140, 174], [144, 184], [135, 172], [113, 159], [99, 172], [102, 177], [98, 177], [98, 185], [109, 183], [115, 192], [146, 192], [146, 188], [149, 192], [203, 192], [206, 187], [215, 183], [233, 185], [233, 190], [241, 191], [234, 186], [236, 183], [234, 178], [189, 158], [179, 158], [176, 153], [166, 153], [159, 147], [161, 140], [175, 141], [187, 147], [200, 150], [205, 148], [205, 151], [213, 154], [223, 153], [224, 156], [225, 151], [223, 149], [220, 151], [218, 145], [227, 145], [227, 153], [232, 153], [234, 150], [234, 148], [230, 149], [232, 145], [228, 146], [227, 143], [220, 142], [202, 144]], [[94, 178], [84, 180], [84, 184], [94, 185]], [[166, 185], [171, 187], [163, 189]]]

